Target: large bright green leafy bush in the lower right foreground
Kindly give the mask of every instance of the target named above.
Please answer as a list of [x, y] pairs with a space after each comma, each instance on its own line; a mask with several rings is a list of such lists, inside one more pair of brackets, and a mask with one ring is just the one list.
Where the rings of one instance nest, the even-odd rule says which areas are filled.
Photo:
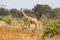
[[46, 25], [46, 30], [44, 35], [48, 35], [50, 37], [60, 34], [60, 21], [52, 21]]

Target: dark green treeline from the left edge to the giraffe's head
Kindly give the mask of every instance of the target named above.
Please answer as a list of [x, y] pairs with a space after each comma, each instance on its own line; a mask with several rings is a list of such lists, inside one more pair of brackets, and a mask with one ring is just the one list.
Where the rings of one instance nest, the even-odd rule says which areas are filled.
[[5, 9], [5, 8], [0, 8], [0, 16], [7, 16], [7, 15], [12, 15], [13, 17], [22, 17], [21, 12], [19, 10], [13, 8], [11, 10]]

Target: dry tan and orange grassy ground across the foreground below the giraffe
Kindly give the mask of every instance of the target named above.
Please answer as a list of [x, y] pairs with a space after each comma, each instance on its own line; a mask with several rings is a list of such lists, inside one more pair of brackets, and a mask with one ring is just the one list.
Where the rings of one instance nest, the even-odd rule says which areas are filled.
[[[8, 25], [4, 21], [0, 21], [0, 40], [42, 40], [43, 28], [41, 30], [30, 30], [22, 29], [23, 27], [24, 25], [17, 22]], [[58, 38], [60, 36], [55, 36], [52, 39], [46, 37], [45, 40], [60, 40]]]

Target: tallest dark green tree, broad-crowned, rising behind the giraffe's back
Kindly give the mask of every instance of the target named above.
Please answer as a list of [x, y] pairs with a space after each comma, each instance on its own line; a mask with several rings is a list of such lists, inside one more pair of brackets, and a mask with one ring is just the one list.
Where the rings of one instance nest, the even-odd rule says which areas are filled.
[[48, 5], [40, 5], [40, 4], [37, 4], [32, 10], [34, 12], [36, 12], [36, 16], [38, 19], [40, 19], [40, 17], [43, 15], [43, 14], [46, 14], [47, 12], [51, 11], [51, 7], [48, 6]]

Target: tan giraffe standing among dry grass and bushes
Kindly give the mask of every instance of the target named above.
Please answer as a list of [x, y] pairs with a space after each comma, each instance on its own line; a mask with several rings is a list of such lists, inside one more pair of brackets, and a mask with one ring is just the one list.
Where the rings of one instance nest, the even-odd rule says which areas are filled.
[[24, 9], [21, 9], [21, 12], [22, 12], [22, 14], [24, 15], [24, 17], [27, 19], [27, 21], [29, 23], [28, 27], [30, 28], [30, 24], [34, 24], [35, 25], [35, 29], [36, 29], [37, 22], [38, 22], [37, 19], [26, 15], [25, 12], [24, 12]]

